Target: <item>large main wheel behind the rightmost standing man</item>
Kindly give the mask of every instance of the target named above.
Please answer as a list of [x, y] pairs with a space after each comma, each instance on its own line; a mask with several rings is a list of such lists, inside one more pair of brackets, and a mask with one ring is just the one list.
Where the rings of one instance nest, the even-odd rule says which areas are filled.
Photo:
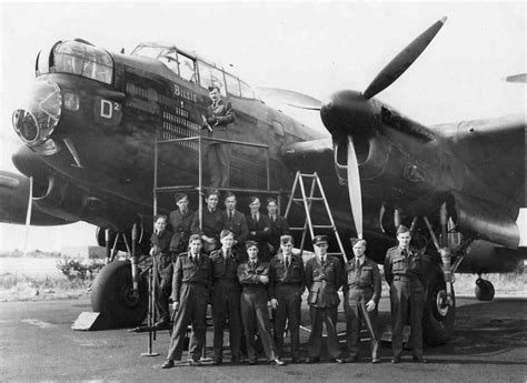
[[446, 303], [446, 284], [441, 273], [434, 273], [426, 289], [422, 310], [422, 339], [427, 345], [441, 345], [454, 337], [456, 298], [453, 286], [453, 304]]

